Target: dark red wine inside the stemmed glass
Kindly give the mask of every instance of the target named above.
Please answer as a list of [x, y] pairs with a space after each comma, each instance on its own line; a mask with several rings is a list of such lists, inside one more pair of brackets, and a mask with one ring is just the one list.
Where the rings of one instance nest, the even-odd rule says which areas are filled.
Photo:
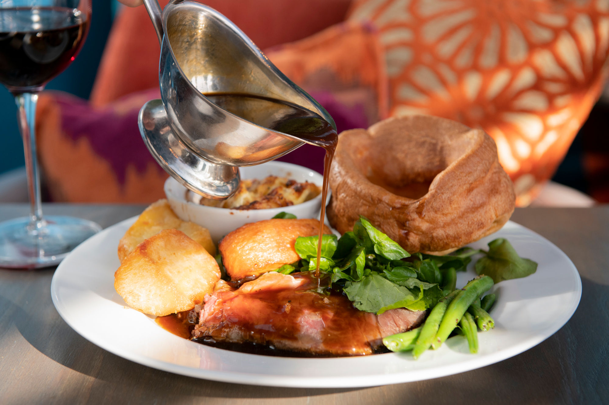
[[86, 13], [67, 7], [0, 9], [0, 83], [41, 88], [74, 60], [85, 42]]

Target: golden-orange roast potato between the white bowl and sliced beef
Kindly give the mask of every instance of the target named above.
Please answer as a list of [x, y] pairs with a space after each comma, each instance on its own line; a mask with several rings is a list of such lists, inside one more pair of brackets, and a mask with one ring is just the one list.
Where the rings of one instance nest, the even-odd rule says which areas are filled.
[[[324, 226], [324, 234], [331, 234]], [[266, 220], [245, 224], [218, 244], [222, 262], [233, 280], [259, 275], [300, 260], [296, 238], [319, 235], [318, 220]]]

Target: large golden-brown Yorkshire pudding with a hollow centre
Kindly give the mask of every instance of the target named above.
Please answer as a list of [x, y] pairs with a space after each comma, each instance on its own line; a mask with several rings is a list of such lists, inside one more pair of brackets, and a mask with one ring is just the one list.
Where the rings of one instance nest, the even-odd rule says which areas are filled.
[[341, 133], [329, 185], [336, 230], [363, 215], [411, 253], [443, 254], [492, 234], [515, 204], [493, 139], [429, 116]]

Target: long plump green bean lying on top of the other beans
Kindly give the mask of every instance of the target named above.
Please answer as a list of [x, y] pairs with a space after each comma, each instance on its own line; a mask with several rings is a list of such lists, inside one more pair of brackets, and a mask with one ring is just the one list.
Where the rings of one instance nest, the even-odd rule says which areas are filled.
[[448, 305], [448, 308], [446, 308], [446, 313], [442, 318], [438, 333], [435, 335], [434, 347], [440, 347], [440, 345], [448, 339], [448, 336], [457, 324], [459, 324], [459, 320], [461, 320], [471, 303], [473, 303], [483, 292], [488, 291], [492, 286], [493, 279], [488, 277], [488, 275], [479, 275], [459, 291], [455, 299], [452, 300], [450, 305]]

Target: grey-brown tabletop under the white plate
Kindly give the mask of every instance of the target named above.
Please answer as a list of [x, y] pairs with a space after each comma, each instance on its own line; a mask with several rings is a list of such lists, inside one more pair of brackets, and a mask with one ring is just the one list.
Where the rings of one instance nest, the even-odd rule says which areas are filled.
[[[44, 210], [107, 227], [143, 208], [49, 204]], [[0, 221], [26, 213], [26, 204], [0, 204]], [[607, 403], [609, 206], [518, 209], [512, 220], [565, 251], [579, 269], [583, 293], [565, 327], [498, 364], [418, 383], [365, 389], [282, 389], [189, 378], [119, 358], [81, 338], [51, 302], [54, 269], [0, 269], [0, 403]]]

